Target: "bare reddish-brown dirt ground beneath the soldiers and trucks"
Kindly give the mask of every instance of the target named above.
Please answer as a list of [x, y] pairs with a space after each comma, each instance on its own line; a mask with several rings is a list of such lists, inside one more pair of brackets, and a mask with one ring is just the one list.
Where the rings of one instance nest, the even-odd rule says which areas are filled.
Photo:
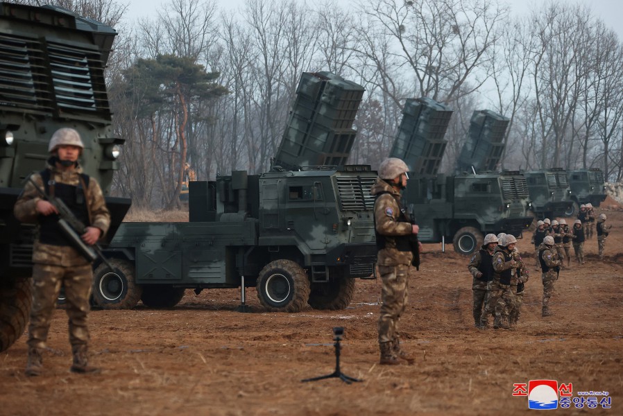
[[[25, 336], [0, 355], [0, 414], [518, 415], [528, 400], [513, 397], [513, 384], [552, 379], [572, 383], [573, 397], [611, 397], [611, 409], [565, 413], [621, 415], [623, 211], [610, 199], [602, 208], [613, 225], [606, 259], [593, 237], [587, 263], [561, 272], [549, 318], [540, 316], [543, 285], [524, 233], [518, 248], [531, 278], [510, 331], [474, 327], [468, 259], [425, 245], [401, 321], [416, 365], [377, 365], [379, 279], [357, 281], [344, 311], [267, 313], [248, 289], [253, 312], [238, 313], [239, 291], [187, 291], [169, 310], [92, 311], [92, 364], [103, 369], [92, 376], [69, 372], [67, 318], [56, 310], [44, 375], [24, 376]], [[341, 370], [363, 381], [302, 383], [334, 371], [332, 327], [345, 331]]]

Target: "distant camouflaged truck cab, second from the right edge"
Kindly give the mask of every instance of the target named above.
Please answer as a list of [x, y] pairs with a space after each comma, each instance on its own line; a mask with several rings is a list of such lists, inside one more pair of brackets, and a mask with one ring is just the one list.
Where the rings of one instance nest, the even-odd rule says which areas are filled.
[[536, 218], [563, 217], [572, 210], [571, 189], [563, 168], [527, 171], [523, 175], [528, 184], [531, 211]]

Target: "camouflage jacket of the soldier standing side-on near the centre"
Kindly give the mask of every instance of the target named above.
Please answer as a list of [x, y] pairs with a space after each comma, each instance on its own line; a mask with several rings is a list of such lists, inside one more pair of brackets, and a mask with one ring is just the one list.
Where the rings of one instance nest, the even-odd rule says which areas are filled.
[[395, 237], [413, 234], [411, 223], [399, 220], [400, 192], [377, 177], [370, 193], [378, 196], [374, 203], [376, 232], [385, 237], [385, 248], [378, 252], [378, 264], [381, 266], [411, 264], [413, 254], [410, 251], [400, 251], [396, 248]]

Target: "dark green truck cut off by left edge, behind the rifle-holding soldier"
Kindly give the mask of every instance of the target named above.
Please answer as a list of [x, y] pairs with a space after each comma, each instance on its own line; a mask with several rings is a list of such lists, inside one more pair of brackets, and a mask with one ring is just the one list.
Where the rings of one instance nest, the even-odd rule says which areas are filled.
[[[85, 143], [85, 173], [110, 191], [123, 139], [111, 129], [104, 68], [115, 31], [62, 8], [0, 3], [0, 351], [24, 332], [31, 308], [33, 225], [13, 205], [44, 169], [54, 131], [75, 128]], [[109, 236], [130, 201], [107, 198]]]

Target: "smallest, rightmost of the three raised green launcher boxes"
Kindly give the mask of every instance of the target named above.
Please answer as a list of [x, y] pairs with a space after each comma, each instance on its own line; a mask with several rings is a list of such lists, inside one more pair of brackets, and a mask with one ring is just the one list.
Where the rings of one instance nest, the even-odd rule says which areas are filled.
[[490, 110], [479, 110], [472, 114], [470, 132], [463, 144], [459, 159], [456, 160], [456, 173], [498, 171], [504, 134], [509, 119]]

